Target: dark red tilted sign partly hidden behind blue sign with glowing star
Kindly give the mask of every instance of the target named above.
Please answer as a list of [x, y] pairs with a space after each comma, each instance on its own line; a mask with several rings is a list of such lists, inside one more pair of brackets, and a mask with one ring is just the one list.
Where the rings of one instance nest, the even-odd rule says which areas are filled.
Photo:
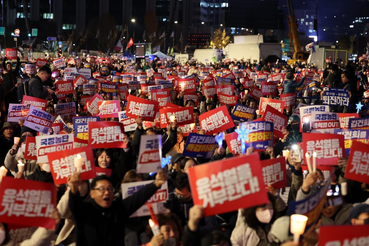
[[278, 138], [284, 137], [282, 131], [287, 127], [288, 118], [281, 112], [270, 105], [266, 105], [265, 113], [263, 114], [261, 120], [273, 122], [274, 135], [276, 135]]

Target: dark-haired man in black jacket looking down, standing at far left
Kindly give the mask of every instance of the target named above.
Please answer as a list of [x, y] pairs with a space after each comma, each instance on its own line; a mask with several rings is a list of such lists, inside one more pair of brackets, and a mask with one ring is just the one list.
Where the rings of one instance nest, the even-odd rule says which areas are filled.
[[44, 90], [44, 87], [42, 87], [43, 83], [50, 77], [50, 75], [50, 67], [46, 65], [40, 67], [35, 77], [32, 77], [28, 82], [28, 95], [31, 97], [46, 99], [48, 94], [54, 94], [53, 90]]

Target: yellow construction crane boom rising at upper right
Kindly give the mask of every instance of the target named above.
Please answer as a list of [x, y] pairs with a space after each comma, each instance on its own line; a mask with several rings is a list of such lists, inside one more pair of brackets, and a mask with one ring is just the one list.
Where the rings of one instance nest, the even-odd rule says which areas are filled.
[[301, 51], [300, 49], [300, 41], [299, 34], [297, 32], [297, 24], [296, 18], [293, 11], [293, 6], [291, 0], [287, 0], [288, 13], [287, 21], [289, 26], [288, 36], [290, 38], [290, 43], [293, 44], [293, 59], [287, 60], [287, 64], [293, 64], [295, 62], [307, 60], [309, 53], [305, 51]]

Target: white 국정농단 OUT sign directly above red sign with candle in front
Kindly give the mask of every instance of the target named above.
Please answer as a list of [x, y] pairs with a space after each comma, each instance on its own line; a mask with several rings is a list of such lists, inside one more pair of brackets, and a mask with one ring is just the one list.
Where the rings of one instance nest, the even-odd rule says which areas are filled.
[[48, 153], [73, 149], [73, 139], [73, 134], [36, 136], [37, 163], [48, 162]]

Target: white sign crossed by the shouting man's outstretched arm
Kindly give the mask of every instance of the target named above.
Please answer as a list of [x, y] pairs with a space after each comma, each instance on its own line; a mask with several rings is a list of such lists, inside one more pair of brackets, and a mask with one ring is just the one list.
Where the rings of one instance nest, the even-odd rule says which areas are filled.
[[[141, 189], [146, 184], [152, 183], [152, 180], [147, 181], [139, 181], [139, 182], [132, 182], [132, 183], [122, 183], [121, 190], [122, 190], [122, 198], [125, 199], [130, 195], [136, 193], [139, 189]], [[150, 211], [147, 204], [152, 205], [152, 209], [154, 210], [154, 214], [161, 214], [170, 212], [169, 209], [164, 207], [164, 203], [168, 200], [169, 193], [168, 193], [168, 182], [162, 184], [162, 186], [155, 192], [152, 197], [145, 202], [145, 205], [137, 209], [131, 216], [132, 217], [141, 217], [141, 216], [150, 216]]]

